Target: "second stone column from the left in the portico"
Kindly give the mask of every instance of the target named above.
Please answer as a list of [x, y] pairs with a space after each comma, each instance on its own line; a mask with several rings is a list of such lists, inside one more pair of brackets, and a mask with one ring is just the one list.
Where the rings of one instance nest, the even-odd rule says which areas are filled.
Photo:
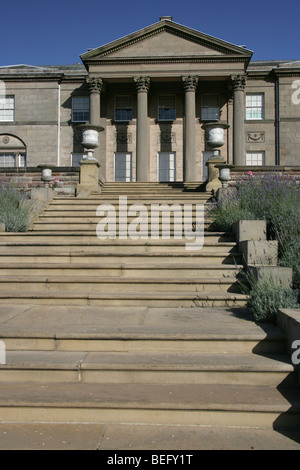
[[136, 180], [149, 180], [148, 91], [149, 77], [136, 77], [137, 124], [136, 124]]

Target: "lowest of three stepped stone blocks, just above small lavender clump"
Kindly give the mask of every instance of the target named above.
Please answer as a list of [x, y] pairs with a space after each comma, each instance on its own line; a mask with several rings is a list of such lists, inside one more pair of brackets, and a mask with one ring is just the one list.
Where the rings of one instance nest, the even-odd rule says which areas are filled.
[[257, 281], [273, 280], [278, 286], [291, 288], [293, 283], [292, 268], [283, 266], [248, 266], [248, 271]]

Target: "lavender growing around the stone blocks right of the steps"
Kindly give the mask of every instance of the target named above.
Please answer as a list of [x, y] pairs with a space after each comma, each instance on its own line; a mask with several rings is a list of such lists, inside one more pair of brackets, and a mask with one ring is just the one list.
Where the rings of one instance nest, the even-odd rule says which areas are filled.
[[[276, 172], [249, 176], [215, 203], [210, 216], [212, 229], [225, 231], [230, 231], [232, 223], [242, 219], [267, 221], [269, 239], [278, 240], [279, 265], [293, 268], [295, 292], [284, 292], [272, 282], [264, 286], [252, 283], [248, 306], [253, 311], [265, 309], [267, 316], [275, 310], [275, 305], [278, 308], [282, 303], [285, 307], [299, 306], [298, 300], [295, 303], [300, 289], [300, 186], [296, 179]], [[267, 299], [272, 308], [267, 307]]]

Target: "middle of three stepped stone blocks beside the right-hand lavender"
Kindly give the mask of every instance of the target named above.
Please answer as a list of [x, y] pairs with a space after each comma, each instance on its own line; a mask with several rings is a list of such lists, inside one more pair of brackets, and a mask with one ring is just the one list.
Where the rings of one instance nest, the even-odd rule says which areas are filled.
[[245, 240], [239, 243], [244, 262], [249, 265], [277, 266], [277, 240]]

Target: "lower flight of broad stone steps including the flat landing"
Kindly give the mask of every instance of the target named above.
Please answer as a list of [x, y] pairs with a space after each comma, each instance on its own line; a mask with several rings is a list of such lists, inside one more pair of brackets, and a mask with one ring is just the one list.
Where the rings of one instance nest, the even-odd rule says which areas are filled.
[[285, 336], [244, 310], [16, 305], [0, 318], [2, 421], [299, 425]]

